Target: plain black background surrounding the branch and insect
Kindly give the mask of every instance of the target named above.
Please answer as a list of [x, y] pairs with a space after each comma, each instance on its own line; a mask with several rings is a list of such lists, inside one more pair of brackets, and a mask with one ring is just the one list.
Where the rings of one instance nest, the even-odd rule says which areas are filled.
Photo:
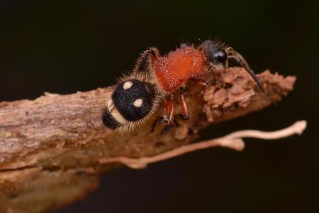
[[167, 53], [222, 38], [256, 72], [296, 75], [274, 107], [203, 131], [271, 131], [308, 120], [303, 136], [247, 139], [104, 175], [64, 212], [319, 212], [319, 4], [301, 1], [0, 1], [0, 100], [106, 87], [150, 46]]

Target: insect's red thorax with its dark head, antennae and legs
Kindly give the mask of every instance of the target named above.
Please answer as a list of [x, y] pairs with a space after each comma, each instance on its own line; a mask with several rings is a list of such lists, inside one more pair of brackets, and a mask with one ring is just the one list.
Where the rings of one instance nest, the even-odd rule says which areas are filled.
[[157, 92], [165, 101], [163, 121], [172, 121], [174, 111], [173, 94], [178, 90], [179, 102], [185, 120], [189, 119], [189, 110], [184, 97], [184, 87], [189, 80], [199, 84], [208, 84], [203, 80], [204, 75], [216, 70], [225, 70], [228, 61], [237, 61], [252, 76], [254, 82], [264, 92], [262, 84], [246, 60], [233, 48], [218, 40], [206, 40], [198, 47], [181, 45], [181, 48], [161, 56], [156, 48], [149, 48], [140, 56], [135, 65], [135, 72], [147, 72], [150, 82], [156, 85]]

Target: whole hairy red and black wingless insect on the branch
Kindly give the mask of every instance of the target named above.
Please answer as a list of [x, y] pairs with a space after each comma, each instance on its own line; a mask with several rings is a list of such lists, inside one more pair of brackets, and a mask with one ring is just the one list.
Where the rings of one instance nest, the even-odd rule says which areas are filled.
[[111, 129], [134, 129], [144, 123], [164, 99], [163, 121], [169, 124], [174, 112], [173, 95], [178, 92], [183, 119], [189, 119], [184, 88], [193, 80], [207, 85], [206, 74], [225, 70], [228, 61], [235, 60], [244, 67], [258, 87], [262, 84], [246, 60], [233, 48], [218, 40], [206, 40], [201, 45], [181, 45], [167, 55], [159, 55], [157, 48], [149, 48], [141, 55], [133, 72], [118, 81], [107, 100], [103, 123]]

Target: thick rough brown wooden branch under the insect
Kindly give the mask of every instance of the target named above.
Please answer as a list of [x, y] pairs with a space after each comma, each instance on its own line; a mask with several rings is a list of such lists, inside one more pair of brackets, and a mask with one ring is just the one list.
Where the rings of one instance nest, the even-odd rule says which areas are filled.
[[278, 102], [296, 80], [269, 71], [258, 77], [267, 96], [238, 67], [208, 76], [211, 86], [189, 84], [186, 101], [191, 119], [179, 121], [179, 126], [166, 134], [161, 134], [163, 125], [150, 133], [162, 107], [130, 135], [106, 129], [101, 111], [109, 88], [1, 102], [0, 212], [43, 212], [73, 202], [98, 185], [99, 173], [117, 166], [99, 160], [140, 158], [184, 146], [198, 138], [198, 131], [208, 124]]

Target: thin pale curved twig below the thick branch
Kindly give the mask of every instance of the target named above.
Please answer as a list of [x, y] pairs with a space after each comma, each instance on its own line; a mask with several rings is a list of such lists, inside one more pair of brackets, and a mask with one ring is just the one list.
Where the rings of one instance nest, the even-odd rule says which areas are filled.
[[172, 151], [167, 151], [166, 153], [162, 153], [159, 155], [151, 156], [151, 157], [143, 157], [143, 158], [127, 158], [127, 157], [115, 157], [115, 158], [101, 158], [99, 159], [99, 163], [122, 163], [133, 169], [142, 169], [145, 168], [149, 163], [155, 163], [162, 160], [167, 160], [169, 158], [174, 158], [178, 155], [183, 155], [185, 153], [190, 153], [193, 151], [198, 151], [205, 148], [211, 148], [215, 146], [222, 146], [226, 148], [231, 148], [235, 151], [242, 151], [245, 148], [245, 143], [242, 138], [261, 138], [261, 139], [279, 139], [286, 138], [288, 136], [292, 136], [294, 134], [301, 135], [303, 131], [306, 129], [307, 122], [306, 121], [297, 121], [295, 124], [287, 127], [286, 129], [281, 129], [279, 131], [272, 132], [263, 132], [256, 130], [244, 130], [244, 131], [236, 131], [234, 133], [230, 133], [227, 136], [223, 136], [221, 138], [215, 138], [208, 141], [202, 141], [198, 143], [193, 143], [186, 146], [181, 146], [179, 148], [175, 148]]

